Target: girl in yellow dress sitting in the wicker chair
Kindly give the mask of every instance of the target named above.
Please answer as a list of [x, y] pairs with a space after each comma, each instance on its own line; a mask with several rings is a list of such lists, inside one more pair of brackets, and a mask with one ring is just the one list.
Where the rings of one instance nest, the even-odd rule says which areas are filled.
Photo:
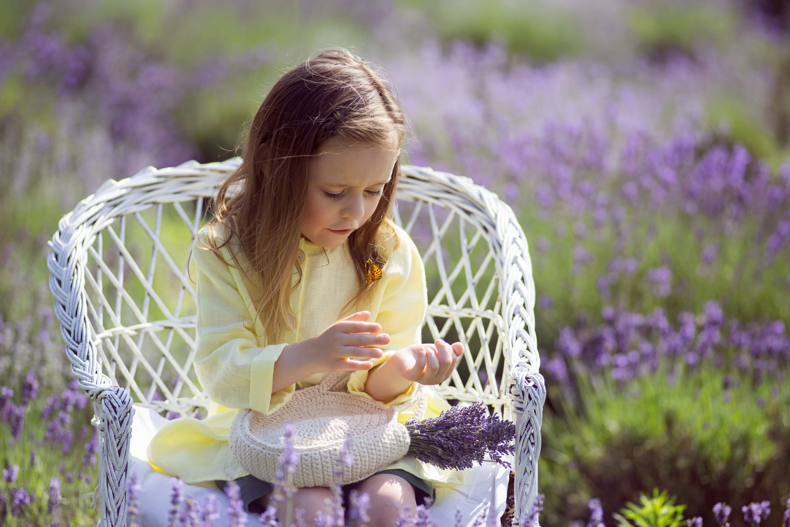
[[[187, 483], [235, 479], [247, 510], [261, 511], [272, 485], [228, 449], [238, 409], [272, 413], [329, 372], [354, 372], [348, 392], [384, 406], [405, 401], [413, 383], [450, 377], [462, 346], [419, 344], [423, 264], [389, 219], [404, 136], [382, 77], [346, 50], [324, 51], [276, 82], [195, 243], [194, 365], [212, 408], [157, 433], [156, 469]], [[238, 190], [232, 199], [229, 189]], [[448, 407], [432, 398], [427, 417]], [[371, 496], [371, 525], [395, 525], [399, 510], [432, 497], [433, 483], [458, 476], [406, 456], [344, 490]], [[327, 498], [328, 488], [300, 488], [293, 505], [312, 520]]]

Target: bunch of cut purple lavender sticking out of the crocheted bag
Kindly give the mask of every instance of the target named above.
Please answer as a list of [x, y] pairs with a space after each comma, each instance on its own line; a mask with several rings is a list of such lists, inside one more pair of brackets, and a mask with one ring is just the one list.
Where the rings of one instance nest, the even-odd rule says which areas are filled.
[[510, 468], [503, 455], [513, 454], [516, 427], [512, 421], [488, 415], [482, 402], [453, 406], [439, 417], [406, 422], [412, 443], [408, 454], [440, 469], [469, 469], [488, 456]]

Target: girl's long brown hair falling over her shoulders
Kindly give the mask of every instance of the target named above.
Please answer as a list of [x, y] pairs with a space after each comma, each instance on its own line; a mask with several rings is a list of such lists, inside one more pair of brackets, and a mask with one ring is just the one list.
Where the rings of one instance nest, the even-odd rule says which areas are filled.
[[[208, 234], [209, 249], [220, 256], [218, 249], [228, 245], [235, 267], [258, 284], [254, 301], [269, 342], [289, 327], [295, 268], [302, 278], [296, 257], [310, 159], [330, 140], [400, 149], [405, 133], [403, 110], [382, 73], [348, 50], [325, 50], [295, 66], [266, 95], [247, 133], [243, 163], [217, 194]], [[344, 309], [358, 305], [376, 283], [365, 280], [365, 262], [385, 260], [399, 173], [400, 159], [371, 219], [348, 237], [359, 289]], [[239, 192], [228, 198], [231, 188]]]

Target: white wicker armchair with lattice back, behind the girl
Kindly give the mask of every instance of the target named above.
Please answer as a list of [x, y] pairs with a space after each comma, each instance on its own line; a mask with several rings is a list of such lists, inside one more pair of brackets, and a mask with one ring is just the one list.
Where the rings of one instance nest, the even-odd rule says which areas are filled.
[[[182, 415], [208, 406], [192, 368], [195, 290], [186, 256], [205, 206], [238, 165], [239, 158], [192, 161], [108, 180], [52, 238], [55, 312], [100, 433], [102, 527], [126, 523], [133, 402]], [[428, 272], [423, 336], [450, 334], [465, 345], [457, 372], [438, 391], [482, 400], [515, 420], [517, 525], [537, 492], [545, 399], [527, 242], [510, 207], [472, 180], [417, 166], [402, 171], [395, 219]]]

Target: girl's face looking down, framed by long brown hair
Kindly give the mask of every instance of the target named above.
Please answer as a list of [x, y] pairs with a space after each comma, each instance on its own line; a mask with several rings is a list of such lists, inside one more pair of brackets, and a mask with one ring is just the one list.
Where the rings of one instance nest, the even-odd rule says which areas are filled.
[[373, 144], [330, 143], [310, 159], [302, 235], [326, 248], [343, 245], [376, 210], [398, 153]]

